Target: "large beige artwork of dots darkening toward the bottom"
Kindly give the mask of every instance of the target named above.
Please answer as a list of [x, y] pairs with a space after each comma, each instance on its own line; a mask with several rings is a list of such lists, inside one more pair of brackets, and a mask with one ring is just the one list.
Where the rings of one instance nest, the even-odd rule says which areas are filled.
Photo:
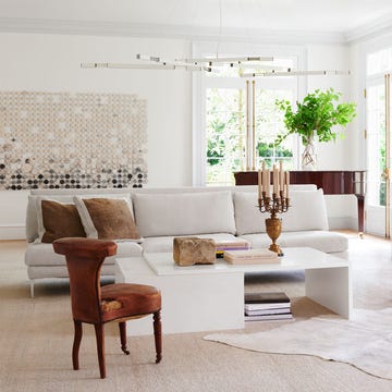
[[0, 91], [0, 189], [145, 183], [146, 100], [123, 94]]

